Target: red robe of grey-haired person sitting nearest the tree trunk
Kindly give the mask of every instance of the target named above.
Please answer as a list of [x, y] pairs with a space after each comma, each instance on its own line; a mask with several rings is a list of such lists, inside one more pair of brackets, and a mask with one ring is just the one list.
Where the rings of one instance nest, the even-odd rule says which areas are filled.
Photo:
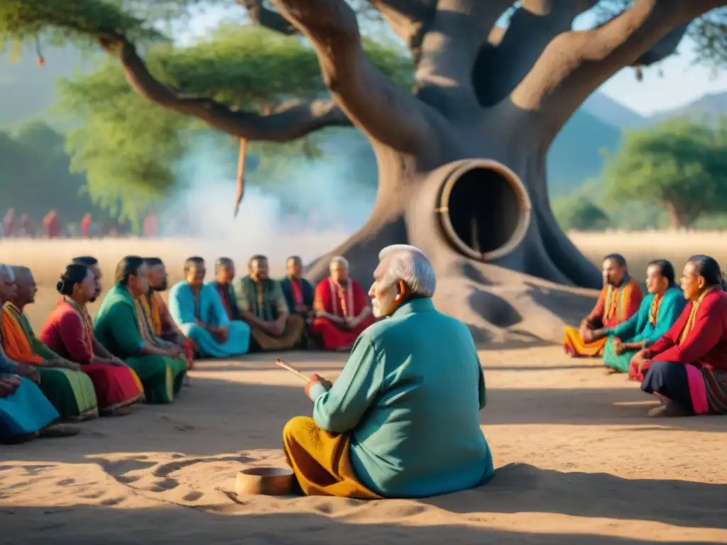
[[[369, 296], [361, 284], [350, 278], [346, 287], [337, 285], [330, 277], [324, 278], [316, 286], [313, 308], [317, 312], [345, 318], [361, 315], [369, 306]], [[320, 342], [324, 350], [341, 350], [350, 348], [358, 336], [374, 323], [372, 315], [366, 316], [355, 329], [343, 328], [332, 320], [318, 315], [310, 326], [310, 332]]]

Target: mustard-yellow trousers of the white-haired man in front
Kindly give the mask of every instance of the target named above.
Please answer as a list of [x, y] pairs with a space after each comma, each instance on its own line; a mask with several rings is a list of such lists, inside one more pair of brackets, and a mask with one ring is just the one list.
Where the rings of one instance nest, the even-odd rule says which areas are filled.
[[326, 432], [312, 418], [296, 416], [285, 424], [283, 446], [306, 496], [381, 499], [354, 474], [348, 435]]

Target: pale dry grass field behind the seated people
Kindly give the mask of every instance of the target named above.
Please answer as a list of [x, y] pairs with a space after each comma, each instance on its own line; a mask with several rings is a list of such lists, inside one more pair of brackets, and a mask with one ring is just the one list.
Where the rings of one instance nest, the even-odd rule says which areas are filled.
[[[270, 257], [272, 273], [281, 275], [287, 256], [299, 254], [306, 260], [315, 259], [344, 238], [345, 233], [297, 235], [276, 241], [250, 237], [234, 238], [232, 241], [185, 238], [101, 238], [90, 241], [0, 239], [0, 262], [26, 265], [33, 270], [40, 292], [36, 304], [28, 311], [33, 323], [39, 326], [57, 299], [55, 283], [60, 272], [71, 258], [79, 255], [95, 256], [107, 276], [113, 275], [116, 263], [125, 255], [161, 257], [169, 270], [169, 281], [174, 283], [182, 277], [182, 262], [190, 255], [204, 257], [210, 267], [217, 257], [232, 257], [239, 270], [251, 255], [263, 253]], [[689, 256], [703, 253], [715, 257], [727, 268], [727, 233], [572, 233], [571, 240], [597, 265], [608, 253], [617, 251], [624, 254], [631, 274], [638, 280], [644, 277], [646, 264], [656, 258], [670, 259], [679, 271]], [[110, 281], [107, 279], [106, 285]]]

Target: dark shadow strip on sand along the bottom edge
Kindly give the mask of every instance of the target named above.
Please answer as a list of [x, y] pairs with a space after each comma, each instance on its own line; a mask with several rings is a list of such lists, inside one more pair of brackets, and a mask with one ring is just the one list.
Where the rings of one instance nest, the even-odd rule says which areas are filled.
[[[480, 545], [627, 545], [662, 541], [593, 534], [531, 533], [469, 525], [395, 525], [348, 523], [316, 513], [235, 514], [199, 512], [181, 507], [110, 509], [75, 505], [21, 507], [0, 511], [7, 545], [55, 545], [73, 536], [76, 545], [103, 544], [440, 544]], [[691, 541], [697, 544], [697, 541]], [[706, 543], [706, 542], [705, 542]]]

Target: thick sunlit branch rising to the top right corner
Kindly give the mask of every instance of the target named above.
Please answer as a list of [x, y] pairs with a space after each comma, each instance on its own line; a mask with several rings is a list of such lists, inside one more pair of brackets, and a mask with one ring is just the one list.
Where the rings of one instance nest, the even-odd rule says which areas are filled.
[[597, 28], [557, 36], [513, 92], [518, 108], [539, 112], [550, 145], [579, 105], [618, 70], [674, 52], [686, 25], [723, 0], [635, 0]]

